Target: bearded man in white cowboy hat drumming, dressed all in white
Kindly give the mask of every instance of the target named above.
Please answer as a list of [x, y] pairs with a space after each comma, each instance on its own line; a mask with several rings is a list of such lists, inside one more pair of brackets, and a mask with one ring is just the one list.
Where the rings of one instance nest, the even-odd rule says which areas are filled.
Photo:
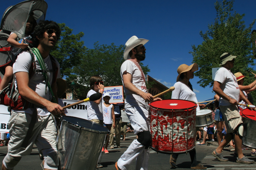
[[150, 119], [148, 117], [148, 102], [162, 100], [147, 93], [145, 75], [139, 65], [145, 59], [146, 39], [138, 39], [132, 36], [125, 43], [124, 59], [121, 66], [121, 78], [124, 85], [125, 112], [138, 136], [129, 148], [116, 162], [116, 169], [129, 169], [130, 164], [136, 158], [136, 169], [147, 169], [149, 159], [149, 145], [151, 142]]

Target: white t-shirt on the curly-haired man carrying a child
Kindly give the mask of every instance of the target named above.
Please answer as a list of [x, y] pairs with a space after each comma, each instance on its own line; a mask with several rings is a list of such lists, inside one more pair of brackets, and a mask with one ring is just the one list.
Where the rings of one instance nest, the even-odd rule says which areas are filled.
[[[36, 69], [41, 69], [35, 54], [34, 54], [34, 57], [36, 62]], [[59, 68], [57, 78], [60, 78], [60, 66], [56, 59], [55, 61], [57, 63], [57, 67]], [[13, 74], [15, 75], [16, 72], [29, 72], [31, 62], [32, 62], [31, 55], [28, 52], [25, 51], [20, 53], [13, 64]], [[51, 59], [49, 55], [44, 59], [44, 62], [45, 62], [46, 69], [52, 70], [52, 64], [51, 64]], [[52, 72], [50, 73], [48, 72], [48, 80], [50, 84], [52, 83], [52, 76], [53, 76]], [[35, 72], [31, 77], [31, 79], [29, 79], [28, 86], [42, 98], [45, 98], [51, 101], [52, 96], [48, 86], [47, 86], [47, 94], [45, 94], [45, 84], [46, 84], [46, 79], [44, 75], [42, 73]], [[17, 88], [16, 81], [15, 81], [15, 88]], [[33, 114], [33, 108], [27, 108], [26, 110], [14, 110], [14, 111]], [[50, 115], [50, 112], [48, 112], [46, 108], [37, 108], [37, 114], [44, 116], [44, 115]]]

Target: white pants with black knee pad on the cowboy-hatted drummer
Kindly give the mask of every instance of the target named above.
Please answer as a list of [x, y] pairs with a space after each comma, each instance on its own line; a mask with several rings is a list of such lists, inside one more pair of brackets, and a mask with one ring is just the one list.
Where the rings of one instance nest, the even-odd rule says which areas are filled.
[[[150, 131], [149, 107], [132, 106], [125, 108], [125, 112], [137, 134], [142, 131]], [[130, 164], [136, 158], [136, 170], [146, 170], [149, 159], [149, 149], [135, 139], [129, 148], [119, 158], [117, 165], [122, 170], [129, 169]]]

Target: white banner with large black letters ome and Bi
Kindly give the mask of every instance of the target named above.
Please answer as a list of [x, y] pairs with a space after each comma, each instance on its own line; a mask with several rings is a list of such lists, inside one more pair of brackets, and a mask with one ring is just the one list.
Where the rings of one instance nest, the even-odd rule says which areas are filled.
[[[67, 100], [62, 99], [64, 105], [69, 105], [78, 102], [78, 100]], [[68, 107], [67, 116], [79, 117], [82, 119], [88, 119], [87, 117], [87, 102]], [[0, 132], [9, 132], [8, 121], [10, 118], [10, 113], [7, 110], [7, 106], [0, 105]]]

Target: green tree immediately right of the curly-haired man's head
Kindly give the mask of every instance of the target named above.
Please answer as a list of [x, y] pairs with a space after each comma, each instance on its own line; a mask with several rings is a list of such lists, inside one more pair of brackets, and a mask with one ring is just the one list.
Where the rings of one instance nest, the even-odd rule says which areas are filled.
[[60, 38], [51, 55], [54, 56], [60, 64], [61, 77], [74, 77], [71, 74], [71, 68], [79, 63], [79, 59], [84, 55], [86, 46], [80, 41], [84, 33], [72, 34], [72, 29], [67, 27], [65, 23], [58, 24], [61, 30]]

